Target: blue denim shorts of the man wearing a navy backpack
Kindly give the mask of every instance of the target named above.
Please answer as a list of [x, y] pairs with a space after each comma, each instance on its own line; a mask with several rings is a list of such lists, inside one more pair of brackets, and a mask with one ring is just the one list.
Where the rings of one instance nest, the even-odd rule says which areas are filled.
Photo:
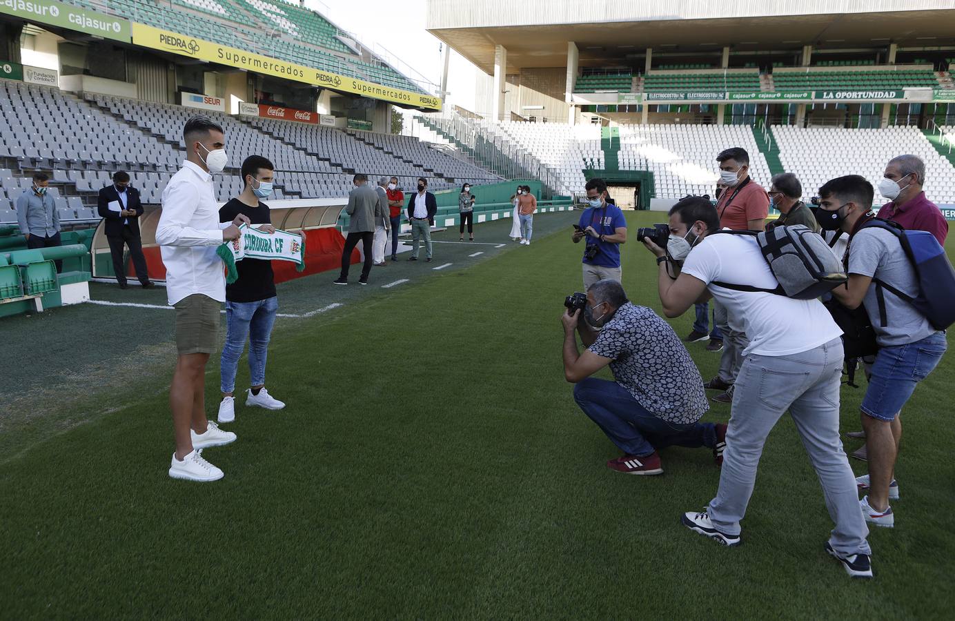
[[880, 420], [895, 420], [916, 384], [939, 364], [945, 347], [945, 333], [935, 332], [921, 341], [881, 348], [862, 398], [862, 412]]

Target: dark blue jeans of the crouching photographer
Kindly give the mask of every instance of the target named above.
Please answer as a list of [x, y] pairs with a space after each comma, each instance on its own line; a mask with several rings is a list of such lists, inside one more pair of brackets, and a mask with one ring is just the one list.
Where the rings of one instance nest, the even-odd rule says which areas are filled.
[[627, 455], [647, 457], [666, 446], [716, 446], [716, 425], [682, 424], [656, 417], [620, 384], [587, 377], [574, 386], [574, 400], [606, 437]]

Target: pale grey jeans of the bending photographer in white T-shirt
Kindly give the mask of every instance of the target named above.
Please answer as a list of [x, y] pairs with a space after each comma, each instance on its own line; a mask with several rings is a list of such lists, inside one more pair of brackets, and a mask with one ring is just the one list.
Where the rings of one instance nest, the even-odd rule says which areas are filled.
[[838, 436], [841, 374], [842, 342], [838, 338], [803, 353], [746, 356], [732, 395], [719, 490], [710, 502], [714, 526], [727, 534], [739, 534], [763, 444], [788, 409], [822, 483], [829, 516], [836, 523], [830, 546], [842, 555], [871, 553], [856, 478]]

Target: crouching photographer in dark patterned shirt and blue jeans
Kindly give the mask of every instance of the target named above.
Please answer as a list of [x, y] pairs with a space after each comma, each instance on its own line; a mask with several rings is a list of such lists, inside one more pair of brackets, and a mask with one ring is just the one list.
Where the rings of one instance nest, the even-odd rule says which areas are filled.
[[[613, 280], [594, 283], [586, 295], [574, 293], [564, 306], [563, 374], [576, 384], [574, 400], [584, 414], [624, 452], [606, 462], [609, 468], [661, 474], [657, 450], [671, 445], [706, 446], [722, 462], [726, 425], [699, 422], [709, 409], [703, 379], [666, 321], [631, 304]], [[584, 353], [574, 331], [581, 334]], [[614, 381], [590, 376], [607, 365]]]

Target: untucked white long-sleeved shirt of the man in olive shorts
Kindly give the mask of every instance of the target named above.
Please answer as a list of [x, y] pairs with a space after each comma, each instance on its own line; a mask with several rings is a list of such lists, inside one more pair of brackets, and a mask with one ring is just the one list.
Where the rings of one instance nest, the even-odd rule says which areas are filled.
[[212, 175], [183, 161], [162, 190], [162, 214], [156, 227], [170, 305], [193, 293], [225, 301], [223, 260], [216, 248], [223, 243], [223, 228], [231, 224], [219, 222]]

